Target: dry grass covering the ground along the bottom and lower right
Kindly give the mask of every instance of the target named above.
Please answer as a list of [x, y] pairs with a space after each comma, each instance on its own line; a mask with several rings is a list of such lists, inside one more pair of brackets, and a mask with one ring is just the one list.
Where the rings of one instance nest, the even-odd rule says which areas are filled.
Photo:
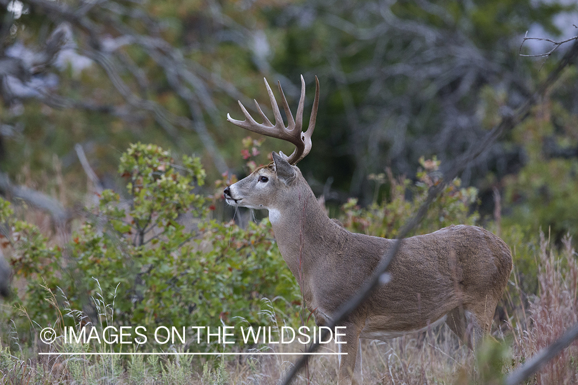
[[[509, 316], [509, 328], [498, 328], [474, 357], [445, 325], [423, 334], [387, 342], [365, 341], [364, 383], [367, 384], [470, 384], [499, 383], [536, 352], [578, 322], [578, 262], [570, 240], [560, 251], [541, 238], [536, 256], [539, 294]], [[517, 279], [506, 297], [520, 297]], [[521, 301], [518, 301], [521, 302]], [[521, 302], [524, 304], [524, 302]], [[507, 324], [507, 323], [506, 323]], [[4, 337], [4, 341], [9, 336]], [[497, 342], [500, 341], [500, 342]], [[1, 341], [0, 341], [1, 342]], [[2, 345], [6, 345], [2, 343]], [[271, 347], [275, 352], [298, 352], [301, 345]], [[324, 346], [335, 352], [335, 345]], [[30, 352], [29, 352], [30, 353]], [[205, 362], [174, 356], [129, 357], [125, 361], [95, 357], [31, 358], [23, 352], [0, 352], [0, 382], [8, 384], [277, 384], [297, 356], [228, 357]], [[33, 354], [29, 356], [34, 357]], [[38, 356], [36, 356], [38, 357]], [[577, 384], [578, 343], [550, 361], [528, 384]], [[204, 370], [203, 370], [204, 367]], [[314, 356], [307, 372], [295, 383], [334, 384], [338, 358]]]

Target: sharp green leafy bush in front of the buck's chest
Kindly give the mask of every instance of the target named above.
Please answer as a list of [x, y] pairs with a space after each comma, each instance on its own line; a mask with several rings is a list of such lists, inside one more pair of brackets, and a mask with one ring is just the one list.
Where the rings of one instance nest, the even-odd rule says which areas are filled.
[[[119, 173], [127, 178], [129, 199], [102, 192], [64, 248], [50, 246], [1, 201], [14, 270], [27, 278], [21, 305], [31, 320], [54, 324], [58, 308], [69, 308], [97, 325], [97, 296], [114, 303], [106, 321], [114, 326], [220, 326], [220, 319], [229, 323], [235, 316], [254, 324], [262, 320], [261, 298], [276, 296], [295, 314], [297, 285], [268, 220], [246, 230], [209, 220], [206, 199], [195, 193], [205, 177], [198, 158], [183, 156], [177, 166], [168, 151], [135, 144], [121, 156]], [[66, 306], [47, 302], [47, 290], [63, 293], [57, 301]]]

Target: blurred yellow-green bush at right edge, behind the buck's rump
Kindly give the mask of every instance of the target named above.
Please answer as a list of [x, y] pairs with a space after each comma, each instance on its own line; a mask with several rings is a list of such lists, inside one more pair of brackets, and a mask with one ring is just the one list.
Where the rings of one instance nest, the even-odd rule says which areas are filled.
[[532, 234], [541, 229], [559, 245], [567, 233], [578, 240], [576, 117], [561, 103], [543, 103], [512, 138], [524, 148], [524, 165], [503, 179], [505, 204], [511, 208], [506, 222], [528, 225]]

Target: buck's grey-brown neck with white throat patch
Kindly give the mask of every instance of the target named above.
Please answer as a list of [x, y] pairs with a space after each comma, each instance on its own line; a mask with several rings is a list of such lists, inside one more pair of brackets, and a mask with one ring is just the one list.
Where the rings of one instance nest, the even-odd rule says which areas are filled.
[[301, 284], [316, 264], [323, 264], [343, 230], [325, 214], [303, 182], [297, 193], [269, 208], [269, 220], [281, 256]]

